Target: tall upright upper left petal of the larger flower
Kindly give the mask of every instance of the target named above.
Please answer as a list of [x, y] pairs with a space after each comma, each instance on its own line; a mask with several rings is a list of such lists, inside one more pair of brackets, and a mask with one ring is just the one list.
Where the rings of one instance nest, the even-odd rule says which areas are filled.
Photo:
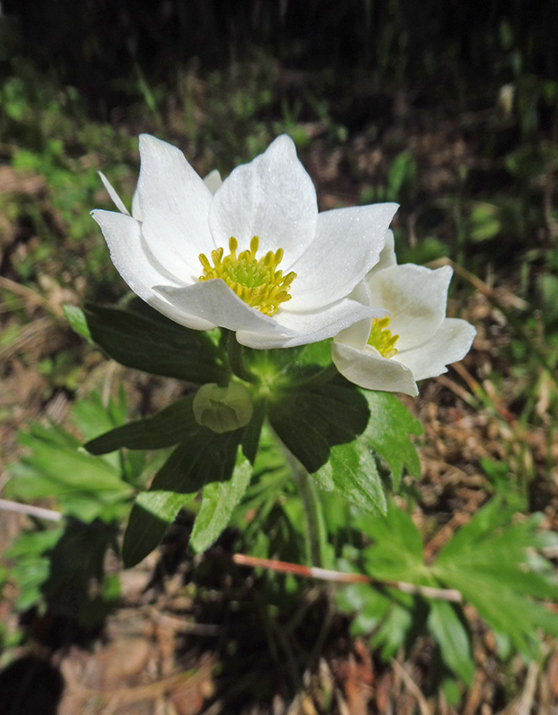
[[137, 191], [146, 243], [167, 270], [195, 281], [201, 273], [199, 254], [212, 248], [211, 191], [171, 144], [142, 134], [139, 153]]

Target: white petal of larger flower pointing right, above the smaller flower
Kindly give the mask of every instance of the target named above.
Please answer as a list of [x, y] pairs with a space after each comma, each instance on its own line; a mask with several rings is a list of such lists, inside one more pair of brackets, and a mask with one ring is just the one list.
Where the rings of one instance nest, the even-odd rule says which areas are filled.
[[316, 239], [292, 266], [296, 279], [286, 309], [312, 309], [345, 298], [378, 263], [396, 210], [397, 204], [372, 204], [319, 214]]

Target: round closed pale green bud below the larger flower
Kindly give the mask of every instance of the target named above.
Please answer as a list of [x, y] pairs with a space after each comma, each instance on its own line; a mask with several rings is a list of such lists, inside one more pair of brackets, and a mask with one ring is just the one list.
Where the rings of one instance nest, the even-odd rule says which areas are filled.
[[240, 383], [229, 383], [227, 387], [216, 383], [202, 385], [194, 397], [193, 408], [198, 425], [219, 434], [245, 427], [254, 412], [250, 392]]

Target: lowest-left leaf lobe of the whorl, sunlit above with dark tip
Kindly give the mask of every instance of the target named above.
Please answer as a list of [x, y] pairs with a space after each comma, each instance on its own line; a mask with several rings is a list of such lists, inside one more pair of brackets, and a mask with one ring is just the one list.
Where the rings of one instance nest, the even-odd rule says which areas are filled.
[[135, 566], [162, 542], [166, 530], [179, 510], [196, 496], [176, 492], [141, 492], [129, 515], [124, 533], [122, 559], [124, 566]]

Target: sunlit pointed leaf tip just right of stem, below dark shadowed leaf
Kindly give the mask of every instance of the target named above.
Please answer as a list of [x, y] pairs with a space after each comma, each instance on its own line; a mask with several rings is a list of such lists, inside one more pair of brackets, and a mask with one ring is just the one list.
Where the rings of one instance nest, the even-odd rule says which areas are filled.
[[386, 496], [376, 462], [360, 440], [331, 448], [329, 461], [312, 477], [327, 492], [337, 492], [357, 507], [384, 514]]

